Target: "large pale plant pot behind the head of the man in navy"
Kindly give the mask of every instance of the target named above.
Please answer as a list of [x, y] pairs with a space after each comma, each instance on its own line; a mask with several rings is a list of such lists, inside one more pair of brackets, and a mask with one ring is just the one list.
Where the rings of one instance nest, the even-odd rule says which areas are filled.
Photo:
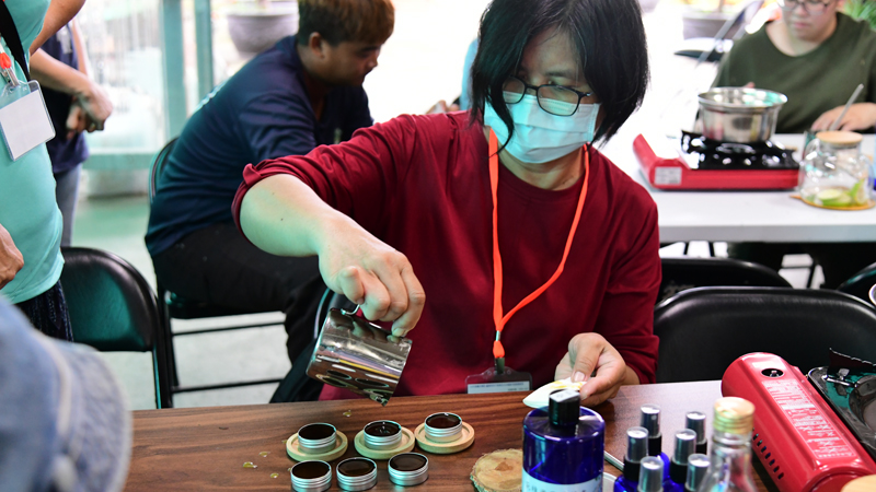
[[228, 33], [243, 58], [251, 58], [297, 32], [295, 1], [241, 1], [228, 12]]

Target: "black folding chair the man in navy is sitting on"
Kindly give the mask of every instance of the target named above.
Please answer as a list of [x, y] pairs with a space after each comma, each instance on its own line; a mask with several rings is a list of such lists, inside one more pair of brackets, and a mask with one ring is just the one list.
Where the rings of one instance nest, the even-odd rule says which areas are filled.
[[[164, 145], [158, 154], [155, 154], [155, 159], [152, 162], [152, 168], [149, 175], [149, 202], [151, 204], [152, 200], [155, 198], [155, 192], [158, 191], [159, 179], [161, 178], [161, 174], [164, 172], [164, 167], [168, 164], [168, 159], [170, 157], [171, 152], [173, 151], [174, 145], [176, 144], [177, 139], [173, 139]], [[237, 329], [245, 329], [245, 328], [264, 328], [268, 326], [276, 326], [277, 323], [246, 323], [246, 324], [237, 324], [230, 326], [222, 326], [219, 328], [205, 328], [205, 329], [197, 329], [197, 330], [186, 330], [182, 332], [174, 333], [171, 327], [171, 323], [173, 319], [205, 319], [205, 318], [219, 318], [226, 316], [241, 316], [241, 315], [252, 315], [252, 314], [261, 314], [261, 313], [269, 313], [268, 311], [256, 311], [256, 309], [235, 309], [226, 306], [218, 306], [215, 304], [210, 304], [207, 302], [195, 301], [191, 298], [185, 298], [182, 295], [178, 295], [174, 292], [169, 291], [165, 289], [162, 283], [161, 279], [157, 279], [157, 286], [155, 290], [158, 291], [158, 298], [161, 301], [159, 303], [159, 308], [161, 309], [161, 314], [164, 318], [164, 340], [166, 343], [166, 352], [168, 352], [168, 366], [169, 372], [171, 374], [172, 385], [170, 388], [171, 395], [177, 393], [191, 393], [191, 391], [206, 391], [210, 389], [222, 389], [222, 388], [232, 388], [239, 386], [254, 386], [254, 385], [263, 385], [263, 384], [274, 384], [279, 383], [279, 378], [269, 378], [269, 379], [255, 379], [255, 380], [243, 380], [243, 382], [233, 382], [233, 383], [220, 383], [220, 384], [212, 384], [212, 385], [200, 385], [200, 386], [182, 386], [180, 385], [180, 378], [176, 371], [176, 356], [175, 351], [173, 349], [173, 339], [175, 337], [181, 336], [188, 336], [188, 335], [198, 335], [198, 333], [210, 333], [216, 331], [226, 331], [226, 330], [237, 330]]]

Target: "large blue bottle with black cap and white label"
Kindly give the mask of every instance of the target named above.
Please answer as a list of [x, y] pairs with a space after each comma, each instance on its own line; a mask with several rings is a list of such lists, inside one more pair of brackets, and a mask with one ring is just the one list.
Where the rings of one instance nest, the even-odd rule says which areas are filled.
[[522, 491], [601, 490], [604, 448], [602, 417], [580, 407], [577, 390], [555, 391], [523, 420]]

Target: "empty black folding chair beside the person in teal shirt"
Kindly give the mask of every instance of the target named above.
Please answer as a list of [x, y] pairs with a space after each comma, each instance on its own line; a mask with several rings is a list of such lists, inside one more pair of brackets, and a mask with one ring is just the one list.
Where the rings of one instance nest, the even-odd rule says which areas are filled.
[[106, 352], [152, 352], [155, 406], [171, 407], [164, 318], [146, 279], [100, 249], [61, 248], [61, 254], [73, 340]]

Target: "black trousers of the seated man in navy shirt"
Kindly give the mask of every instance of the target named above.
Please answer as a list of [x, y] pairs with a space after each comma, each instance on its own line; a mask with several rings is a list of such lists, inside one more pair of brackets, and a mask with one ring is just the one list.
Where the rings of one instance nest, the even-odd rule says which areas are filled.
[[319, 278], [316, 257], [289, 258], [253, 246], [234, 224], [196, 231], [152, 257], [158, 282], [194, 301], [238, 309], [286, 313], [291, 360], [313, 338], [312, 325], [290, 318], [301, 285]]

